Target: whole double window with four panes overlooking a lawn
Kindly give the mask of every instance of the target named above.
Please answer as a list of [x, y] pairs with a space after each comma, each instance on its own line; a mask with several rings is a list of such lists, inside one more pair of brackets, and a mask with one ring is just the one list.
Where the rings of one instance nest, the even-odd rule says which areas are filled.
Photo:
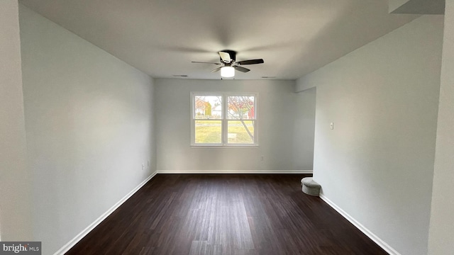
[[194, 92], [192, 146], [257, 146], [257, 94]]

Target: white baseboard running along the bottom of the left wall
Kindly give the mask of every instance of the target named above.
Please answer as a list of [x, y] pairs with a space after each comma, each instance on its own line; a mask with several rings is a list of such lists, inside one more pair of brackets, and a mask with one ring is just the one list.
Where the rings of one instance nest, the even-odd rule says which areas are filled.
[[99, 216], [99, 218], [97, 218], [92, 224], [90, 224], [88, 227], [86, 227], [84, 230], [82, 230], [82, 232], [80, 232], [79, 234], [77, 234], [76, 237], [74, 237], [73, 239], [70, 240], [70, 242], [67, 242], [67, 244], [65, 244], [64, 246], [62, 246], [62, 248], [60, 248], [58, 251], [55, 251], [55, 254], [54, 255], [63, 255], [65, 254], [67, 251], [69, 251], [72, 246], [74, 246], [75, 244], [77, 244], [77, 242], [79, 242], [82, 238], [84, 238], [90, 231], [92, 231], [97, 225], [99, 225], [99, 223], [101, 223], [103, 220], [106, 219], [106, 217], [108, 217], [109, 215], [111, 215], [112, 212], [114, 212], [114, 210], [116, 210], [118, 207], [120, 207], [120, 205], [122, 205], [123, 203], [125, 203], [126, 200], [128, 200], [128, 198], [131, 198], [131, 196], [134, 195], [135, 192], [137, 192], [140, 188], [142, 188], [142, 186], [145, 185], [145, 183], [147, 183], [148, 181], [150, 181], [150, 179], [152, 179], [155, 175], [157, 174], [157, 171], [155, 171], [153, 174], [151, 174], [150, 176], [147, 177], [147, 179], [145, 179], [144, 181], [142, 181], [137, 187], [135, 187], [131, 192], [129, 192], [128, 194], [126, 194], [126, 196], [124, 196], [123, 198], [121, 198], [121, 200], [119, 200], [114, 206], [112, 206], [111, 208], [109, 208], [109, 210], [107, 210], [106, 212], [104, 212], [101, 216]]

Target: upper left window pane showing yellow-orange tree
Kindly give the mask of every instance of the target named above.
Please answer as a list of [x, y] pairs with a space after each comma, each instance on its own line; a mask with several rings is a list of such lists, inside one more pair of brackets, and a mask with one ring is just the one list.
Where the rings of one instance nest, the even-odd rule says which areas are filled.
[[194, 118], [196, 119], [221, 119], [221, 96], [194, 96]]

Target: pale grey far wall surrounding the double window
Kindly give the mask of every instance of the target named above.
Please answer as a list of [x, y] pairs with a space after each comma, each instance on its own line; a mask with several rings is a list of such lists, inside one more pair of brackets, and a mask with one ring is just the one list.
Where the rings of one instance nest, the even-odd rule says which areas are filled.
[[[156, 79], [157, 169], [172, 172], [279, 172], [309, 167], [294, 159], [294, 81]], [[257, 148], [190, 147], [191, 91], [258, 92]], [[304, 130], [301, 130], [304, 132]], [[260, 156], [264, 160], [260, 161]], [[310, 161], [310, 162], [309, 162]]]

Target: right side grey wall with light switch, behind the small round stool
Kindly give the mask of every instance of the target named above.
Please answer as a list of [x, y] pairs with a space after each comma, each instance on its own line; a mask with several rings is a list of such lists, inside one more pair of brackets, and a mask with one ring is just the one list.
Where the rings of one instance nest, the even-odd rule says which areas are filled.
[[400, 254], [428, 251], [442, 41], [422, 16], [298, 81], [317, 89], [323, 196]]

